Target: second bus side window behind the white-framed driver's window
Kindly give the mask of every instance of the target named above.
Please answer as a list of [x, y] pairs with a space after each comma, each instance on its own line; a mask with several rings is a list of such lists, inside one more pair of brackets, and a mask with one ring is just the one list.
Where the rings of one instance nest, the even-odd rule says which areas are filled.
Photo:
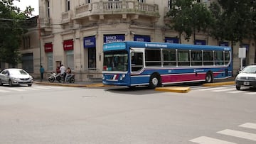
[[163, 50], [164, 67], [176, 67], [176, 50]]

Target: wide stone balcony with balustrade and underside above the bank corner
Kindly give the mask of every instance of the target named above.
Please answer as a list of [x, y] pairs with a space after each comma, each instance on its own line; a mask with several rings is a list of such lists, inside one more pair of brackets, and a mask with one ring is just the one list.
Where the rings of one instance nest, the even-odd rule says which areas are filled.
[[139, 17], [149, 18], [151, 22], [156, 22], [159, 15], [159, 7], [156, 4], [144, 4], [138, 1], [100, 1], [92, 4], [82, 4], [75, 8], [73, 20], [79, 21], [99, 21], [107, 16], [119, 15], [123, 19], [131, 20]]

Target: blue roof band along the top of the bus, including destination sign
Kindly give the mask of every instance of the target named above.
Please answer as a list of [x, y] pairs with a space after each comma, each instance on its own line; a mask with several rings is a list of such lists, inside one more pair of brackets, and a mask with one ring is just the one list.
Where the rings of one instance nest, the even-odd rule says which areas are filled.
[[125, 50], [126, 48], [169, 48], [169, 49], [193, 49], [193, 50], [224, 50], [230, 51], [230, 47], [216, 45], [189, 45], [179, 43], [157, 43], [157, 42], [138, 42], [138, 41], [120, 41], [105, 43], [103, 51], [108, 50]]

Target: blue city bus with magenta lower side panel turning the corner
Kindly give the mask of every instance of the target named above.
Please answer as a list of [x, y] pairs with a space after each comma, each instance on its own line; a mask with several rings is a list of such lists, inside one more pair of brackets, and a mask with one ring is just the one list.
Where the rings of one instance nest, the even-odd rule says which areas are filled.
[[230, 47], [122, 41], [103, 45], [102, 83], [154, 88], [233, 75]]

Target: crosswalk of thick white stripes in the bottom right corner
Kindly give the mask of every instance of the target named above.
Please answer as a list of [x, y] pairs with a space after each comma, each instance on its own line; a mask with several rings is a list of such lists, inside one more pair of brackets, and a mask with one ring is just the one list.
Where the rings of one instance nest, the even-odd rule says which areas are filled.
[[[231, 129], [224, 129], [222, 131], [218, 131], [216, 133], [222, 134], [222, 135], [228, 135], [235, 138], [242, 138], [245, 140], [250, 140], [252, 143], [256, 143], [256, 133], [248, 133], [246, 132], [246, 128], [250, 129], [256, 129], [256, 123], [244, 123], [241, 124], [239, 127], [245, 128], [243, 131], [237, 131], [237, 130], [231, 130]], [[211, 138], [208, 136], [200, 136], [198, 138], [193, 138], [189, 140], [193, 143], [199, 143], [199, 144], [236, 144], [235, 142], [230, 142], [227, 140], [220, 140], [218, 138]]]

